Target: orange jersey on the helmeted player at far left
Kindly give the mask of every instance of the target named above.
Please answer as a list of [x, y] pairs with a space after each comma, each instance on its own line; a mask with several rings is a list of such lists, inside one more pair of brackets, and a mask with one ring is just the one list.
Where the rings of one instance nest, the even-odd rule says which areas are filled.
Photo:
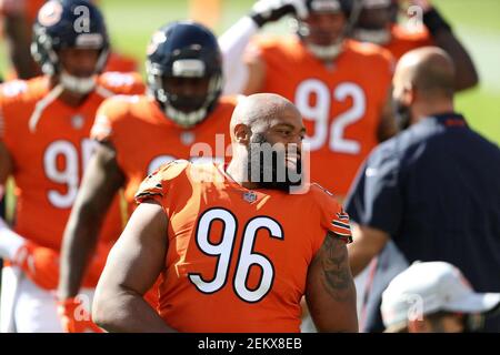
[[[114, 93], [140, 93], [138, 74], [102, 74], [78, 108], [56, 99], [36, 120], [51, 92], [49, 78], [12, 81], [0, 87], [1, 132], [13, 162], [17, 211], [14, 230], [33, 243], [59, 251], [66, 222], [77, 196], [94, 142], [90, 129], [100, 103]], [[107, 216], [101, 241], [121, 233], [118, 200]]]

